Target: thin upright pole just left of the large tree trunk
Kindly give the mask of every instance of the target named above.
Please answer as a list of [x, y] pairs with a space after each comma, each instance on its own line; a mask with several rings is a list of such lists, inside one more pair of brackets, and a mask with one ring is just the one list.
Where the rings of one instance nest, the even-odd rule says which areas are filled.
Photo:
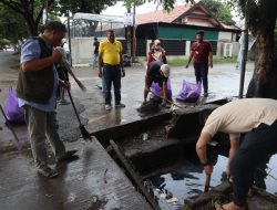
[[244, 97], [244, 82], [245, 82], [245, 70], [246, 70], [246, 61], [247, 61], [247, 52], [248, 52], [248, 29], [249, 29], [249, 12], [248, 12], [248, 3], [249, 0], [245, 2], [245, 29], [244, 29], [244, 49], [243, 49], [243, 61], [242, 61], [242, 70], [240, 70], [240, 82], [239, 82], [239, 98]]

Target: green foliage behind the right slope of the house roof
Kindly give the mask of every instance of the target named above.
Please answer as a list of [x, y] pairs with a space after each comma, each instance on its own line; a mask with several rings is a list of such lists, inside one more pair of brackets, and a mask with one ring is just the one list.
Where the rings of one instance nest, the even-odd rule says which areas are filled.
[[235, 24], [232, 20], [230, 7], [216, 0], [203, 0], [202, 2], [219, 22], [229, 25]]

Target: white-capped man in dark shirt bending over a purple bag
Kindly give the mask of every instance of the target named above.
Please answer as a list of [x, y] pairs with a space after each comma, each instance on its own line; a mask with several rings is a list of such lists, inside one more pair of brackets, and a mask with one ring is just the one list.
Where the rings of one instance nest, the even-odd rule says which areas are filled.
[[166, 104], [167, 80], [170, 77], [170, 74], [171, 69], [167, 64], [164, 64], [161, 61], [153, 61], [150, 63], [150, 67], [145, 75], [144, 102], [146, 102], [148, 92], [151, 91], [151, 84], [155, 82], [158, 83], [158, 86], [162, 87], [163, 104]]

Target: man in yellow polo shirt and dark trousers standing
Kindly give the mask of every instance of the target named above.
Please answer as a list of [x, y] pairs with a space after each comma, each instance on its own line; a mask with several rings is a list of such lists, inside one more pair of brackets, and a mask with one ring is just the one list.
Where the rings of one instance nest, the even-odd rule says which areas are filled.
[[[121, 103], [121, 76], [125, 76], [123, 70], [122, 44], [115, 40], [114, 31], [109, 30], [107, 39], [99, 46], [99, 77], [104, 76], [105, 83], [105, 109], [111, 109], [111, 87], [113, 84], [115, 107], [125, 107]], [[103, 62], [103, 72], [102, 72]]]

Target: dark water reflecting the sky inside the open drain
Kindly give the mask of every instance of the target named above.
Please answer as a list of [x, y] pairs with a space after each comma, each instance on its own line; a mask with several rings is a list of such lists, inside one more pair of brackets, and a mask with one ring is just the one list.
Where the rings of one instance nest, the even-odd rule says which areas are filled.
[[[219, 155], [211, 179], [212, 188], [226, 181], [226, 162], [227, 158]], [[269, 172], [269, 176], [264, 179], [266, 191], [277, 195], [277, 180], [275, 177], [277, 175], [277, 155], [270, 158], [267, 167], [266, 171]], [[184, 160], [175, 170], [150, 177], [146, 181], [148, 185], [153, 185], [153, 191], [158, 199], [161, 209], [182, 209], [184, 199], [204, 190], [205, 175], [198, 161], [195, 159]], [[164, 198], [166, 195], [168, 198], [172, 195], [174, 199]], [[173, 202], [174, 200], [177, 201]]]

